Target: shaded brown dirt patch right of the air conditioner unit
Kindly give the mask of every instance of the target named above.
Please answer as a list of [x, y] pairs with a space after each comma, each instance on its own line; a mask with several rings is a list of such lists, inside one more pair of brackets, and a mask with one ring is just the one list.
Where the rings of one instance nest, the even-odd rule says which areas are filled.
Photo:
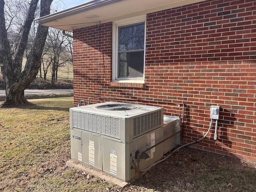
[[171, 153], [124, 191], [255, 191], [256, 162], [189, 147]]

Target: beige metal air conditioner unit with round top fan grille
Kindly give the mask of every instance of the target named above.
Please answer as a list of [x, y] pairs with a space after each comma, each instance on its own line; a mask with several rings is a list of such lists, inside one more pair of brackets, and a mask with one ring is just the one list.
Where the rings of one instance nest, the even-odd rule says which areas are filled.
[[[123, 181], [136, 177], [136, 151], [162, 141], [162, 107], [105, 102], [70, 108], [71, 158]], [[145, 169], [162, 158], [163, 144], [140, 160]]]

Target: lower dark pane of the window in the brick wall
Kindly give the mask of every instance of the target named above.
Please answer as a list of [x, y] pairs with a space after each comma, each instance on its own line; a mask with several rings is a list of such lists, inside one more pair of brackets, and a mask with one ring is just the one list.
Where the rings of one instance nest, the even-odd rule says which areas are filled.
[[118, 78], [143, 77], [144, 51], [118, 54]]

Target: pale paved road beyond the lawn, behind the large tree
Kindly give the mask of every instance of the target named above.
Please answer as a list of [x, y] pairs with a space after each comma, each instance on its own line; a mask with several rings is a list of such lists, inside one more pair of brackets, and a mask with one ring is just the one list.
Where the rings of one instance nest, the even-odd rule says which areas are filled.
[[[60, 94], [60, 93], [73, 93], [73, 89], [26, 89], [24, 91], [25, 95], [33, 95], [33, 94]], [[5, 96], [5, 90], [0, 90], [0, 96]]]

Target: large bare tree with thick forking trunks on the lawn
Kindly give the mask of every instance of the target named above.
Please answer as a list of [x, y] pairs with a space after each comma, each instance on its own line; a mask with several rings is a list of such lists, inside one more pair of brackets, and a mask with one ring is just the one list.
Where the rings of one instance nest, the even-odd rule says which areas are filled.
[[[41, 65], [41, 56], [48, 34], [48, 27], [38, 25], [32, 49], [22, 71], [22, 60], [26, 50], [30, 28], [34, 20], [39, 0], [31, 0], [24, 24], [21, 29], [19, 43], [13, 47], [8, 39], [6, 28], [4, 0], [0, 0], [0, 64], [6, 90], [6, 100], [2, 106], [27, 103], [24, 90], [35, 78]], [[40, 17], [50, 14], [52, 0], [40, 1]]]

